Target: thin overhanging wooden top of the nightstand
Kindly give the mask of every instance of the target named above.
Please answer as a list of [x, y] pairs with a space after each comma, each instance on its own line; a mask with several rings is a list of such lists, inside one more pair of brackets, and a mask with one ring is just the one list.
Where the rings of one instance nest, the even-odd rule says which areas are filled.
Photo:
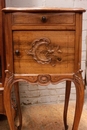
[[13, 8], [8, 7], [3, 9], [5, 12], [85, 12], [86, 10], [83, 8]]

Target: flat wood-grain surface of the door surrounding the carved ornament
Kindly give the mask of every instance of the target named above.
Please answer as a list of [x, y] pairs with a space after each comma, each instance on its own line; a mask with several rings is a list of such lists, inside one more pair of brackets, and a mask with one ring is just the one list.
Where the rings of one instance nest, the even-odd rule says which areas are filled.
[[[54, 66], [50, 63], [41, 64], [38, 63], [32, 55], [27, 55], [27, 51], [32, 48], [32, 42], [39, 38], [48, 38], [50, 45], [59, 46], [61, 53], [58, 54], [62, 61], [56, 63]], [[74, 31], [14, 31], [13, 43], [14, 43], [14, 71], [19, 74], [27, 73], [71, 73], [74, 71], [74, 45], [75, 32]], [[39, 51], [43, 51], [47, 47], [43, 44], [40, 46], [37, 55], [43, 57]], [[56, 49], [56, 48], [55, 48]], [[56, 51], [54, 49], [54, 54]], [[15, 51], [19, 50], [20, 55], [16, 55]], [[34, 69], [35, 68], [35, 69]]]

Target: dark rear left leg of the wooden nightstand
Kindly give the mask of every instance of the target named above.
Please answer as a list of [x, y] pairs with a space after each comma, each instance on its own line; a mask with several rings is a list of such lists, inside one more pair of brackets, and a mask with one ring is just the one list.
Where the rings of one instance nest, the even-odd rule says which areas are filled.
[[14, 84], [14, 90], [15, 90], [15, 96], [16, 96], [16, 102], [17, 102], [17, 110], [18, 110], [18, 116], [19, 116], [18, 130], [21, 130], [21, 127], [22, 127], [22, 113], [21, 113], [21, 107], [20, 107], [20, 95], [19, 95], [19, 84], [18, 84], [18, 82]]

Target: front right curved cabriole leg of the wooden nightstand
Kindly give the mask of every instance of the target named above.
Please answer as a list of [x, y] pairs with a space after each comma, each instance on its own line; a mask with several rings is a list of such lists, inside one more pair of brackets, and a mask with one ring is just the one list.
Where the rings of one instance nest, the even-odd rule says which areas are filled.
[[79, 75], [74, 75], [74, 83], [76, 87], [76, 109], [72, 130], [78, 130], [84, 103], [84, 84], [80, 72]]

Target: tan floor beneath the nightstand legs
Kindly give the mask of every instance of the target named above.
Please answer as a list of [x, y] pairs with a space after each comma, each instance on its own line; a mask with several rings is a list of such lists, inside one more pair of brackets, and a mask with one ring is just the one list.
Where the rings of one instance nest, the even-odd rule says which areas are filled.
[[[68, 130], [72, 128], [74, 107], [75, 103], [70, 102]], [[22, 130], [64, 130], [63, 103], [22, 106], [22, 116]], [[18, 119], [15, 123], [18, 125]], [[6, 118], [0, 120], [0, 130], [9, 130]], [[87, 108], [85, 105], [78, 130], [87, 130]]]

